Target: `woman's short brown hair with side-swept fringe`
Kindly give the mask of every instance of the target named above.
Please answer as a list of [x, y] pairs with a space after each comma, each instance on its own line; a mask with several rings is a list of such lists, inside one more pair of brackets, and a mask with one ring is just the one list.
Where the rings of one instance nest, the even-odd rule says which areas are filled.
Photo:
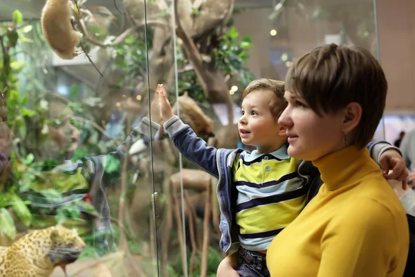
[[362, 117], [355, 143], [365, 147], [382, 118], [387, 81], [382, 67], [365, 48], [329, 44], [294, 62], [286, 75], [286, 90], [304, 98], [320, 116], [358, 102]]

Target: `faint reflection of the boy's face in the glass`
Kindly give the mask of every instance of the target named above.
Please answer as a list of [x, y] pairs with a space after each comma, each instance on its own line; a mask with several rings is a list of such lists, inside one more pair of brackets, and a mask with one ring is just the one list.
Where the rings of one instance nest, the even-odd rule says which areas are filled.
[[75, 152], [80, 141], [80, 131], [75, 127], [73, 111], [60, 102], [50, 103], [49, 107], [49, 118], [54, 119], [49, 126], [50, 137], [62, 152]]

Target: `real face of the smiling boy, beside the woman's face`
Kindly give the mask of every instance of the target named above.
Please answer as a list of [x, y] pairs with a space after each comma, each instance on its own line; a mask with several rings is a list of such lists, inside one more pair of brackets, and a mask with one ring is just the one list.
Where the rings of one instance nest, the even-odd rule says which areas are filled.
[[[268, 89], [250, 92], [242, 101], [238, 129], [241, 142], [256, 146], [259, 152], [269, 153], [277, 150], [282, 142], [279, 139], [279, 124], [270, 111], [270, 102], [277, 97]], [[284, 136], [283, 140], [286, 140]]]

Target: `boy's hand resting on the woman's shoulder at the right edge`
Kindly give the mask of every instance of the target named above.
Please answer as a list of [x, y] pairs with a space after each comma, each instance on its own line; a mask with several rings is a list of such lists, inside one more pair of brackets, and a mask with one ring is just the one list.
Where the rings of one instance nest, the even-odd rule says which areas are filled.
[[379, 163], [385, 179], [402, 181], [403, 189], [406, 189], [408, 170], [398, 151], [391, 149], [383, 152], [379, 158]]

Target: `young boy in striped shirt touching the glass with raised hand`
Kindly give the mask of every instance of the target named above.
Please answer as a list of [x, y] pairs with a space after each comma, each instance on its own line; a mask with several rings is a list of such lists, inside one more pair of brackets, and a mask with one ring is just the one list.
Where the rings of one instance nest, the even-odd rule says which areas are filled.
[[[151, 118], [165, 120], [165, 131], [183, 156], [219, 179], [219, 244], [228, 251], [239, 240], [240, 276], [269, 276], [268, 246], [302, 211], [310, 181], [318, 174], [287, 154], [286, 133], [277, 123], [286, 107], [284, 91], [284, 82], [269, 79], [255, 80], [243, 91], [238, 129], [242, 143], [257, 148], [252, 153], [208, 147], [174, 116], [163, 85], [151, 104]], [[138, 129], [148, 127], [145, 118]], [[158, 124], [151, 127], [155, 131]]]

